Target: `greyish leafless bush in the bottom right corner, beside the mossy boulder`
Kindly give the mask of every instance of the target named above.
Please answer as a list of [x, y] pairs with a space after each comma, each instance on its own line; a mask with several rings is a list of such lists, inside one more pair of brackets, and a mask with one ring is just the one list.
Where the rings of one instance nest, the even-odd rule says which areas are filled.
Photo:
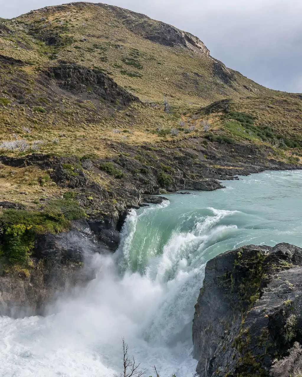
[[271, 377], [300, 377], [302, 375], [302, 347], [295, 342], [288, 356], [274, 360], [271, 367]]

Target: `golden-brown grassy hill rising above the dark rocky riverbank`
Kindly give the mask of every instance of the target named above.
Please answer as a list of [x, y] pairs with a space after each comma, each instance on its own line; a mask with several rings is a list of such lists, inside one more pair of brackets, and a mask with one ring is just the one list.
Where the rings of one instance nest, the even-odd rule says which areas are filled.
[[[273, 145], [276, 138], [300, 138], [301, 96], [254, 83], [212, 58], [197, 37], [145, 15], [82, 2], [1, 21], [2, 140], [16, 133], [45, 141], [42, 152], [89, 150], [104, 156], [111, 153], [106, 140], [156, 143], [173, 128], [180, 128], [178, 138], [185, 137], [190, 118], [200, 136], [205, 117], [199, 109], [225, 98], [233, 100], [232, 110], [254, 116], [254, 126], [268, 127], [272, 136], [244, 135], [237, 120], [226, 125], [211, 113], [206, 120], [213, 130]], [[107, 98], [92, 78], [101, 74], [136, 99]], [[164, 111], [164, 97], [170, 113]], [[59, 143], [52, 143], [55, 138]]]

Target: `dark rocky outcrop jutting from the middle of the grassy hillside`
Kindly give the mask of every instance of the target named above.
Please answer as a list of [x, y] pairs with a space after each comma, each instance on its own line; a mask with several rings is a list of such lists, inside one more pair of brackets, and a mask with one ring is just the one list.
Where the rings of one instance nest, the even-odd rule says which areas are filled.
[[59, 66], [49, 68], [46, 74], [55, 78], [60, 88], [74, 94], [88, 92], [122, 106], [128, 106], [133, 101], [139, 102], [137, 97], [120, 87], [111, 77], [95, 69], [62, 61]]

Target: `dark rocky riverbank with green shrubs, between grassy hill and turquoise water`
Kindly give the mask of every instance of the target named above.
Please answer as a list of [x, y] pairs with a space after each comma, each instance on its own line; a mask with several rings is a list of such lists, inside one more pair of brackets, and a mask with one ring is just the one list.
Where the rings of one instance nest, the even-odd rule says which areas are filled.
[[[270, 148], [202, 143], [192, 138], [175, 148], [111, 144], [116, 152], [111, 159], [0, 156], [2, 167], [12, 169], [5, 173], [8, 179], [29, 167], [47, 174], [39, 181], [44, 191], [38, 201], [23, 192], [26, 202], [0, 203], [0, 314], [43, 314], [57, 294], [92, 278], [83, 269], [87, 250], [114, 252], [129, 209], [162, 202], [160, 193], [211, 191], [237, 175], [300, 168], [268, 158]], [[45, 182], [62, 195], [47, 195]]]

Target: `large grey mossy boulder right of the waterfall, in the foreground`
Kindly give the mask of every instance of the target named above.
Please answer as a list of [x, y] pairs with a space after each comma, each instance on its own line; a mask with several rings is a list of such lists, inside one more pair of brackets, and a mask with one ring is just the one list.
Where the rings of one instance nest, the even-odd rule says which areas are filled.
[[302, 342], [302, 249], [244, 246], [206, 265], [195, 306], [193, 356], [208, 376], [269, 376]]

